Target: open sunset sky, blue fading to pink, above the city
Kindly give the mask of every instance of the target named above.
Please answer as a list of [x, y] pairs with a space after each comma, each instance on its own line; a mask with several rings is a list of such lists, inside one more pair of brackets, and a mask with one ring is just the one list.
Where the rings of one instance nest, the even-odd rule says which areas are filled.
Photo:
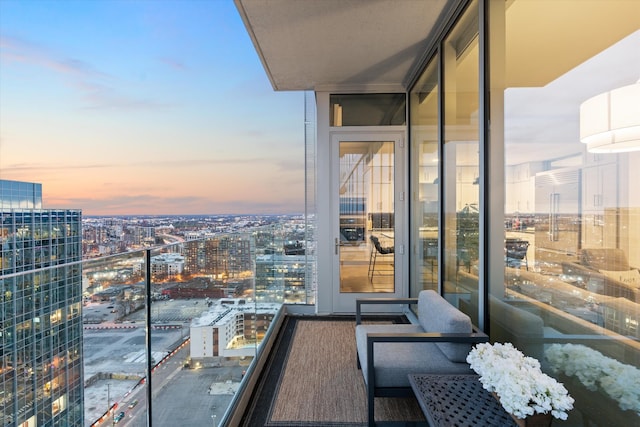
[[0, 0], [0, 179], [45, 208], [300, 213], [303, 98], [231, 0]]

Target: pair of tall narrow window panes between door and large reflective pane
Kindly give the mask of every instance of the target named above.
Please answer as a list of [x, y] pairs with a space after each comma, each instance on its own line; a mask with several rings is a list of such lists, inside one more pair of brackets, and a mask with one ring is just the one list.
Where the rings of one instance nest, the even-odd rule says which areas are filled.
[[410, 295], [441, 284], [444, 296], [475, 324], [480, 257], [478, 28], [478, 2], [472, 1], [439, 42], [409, 94]]

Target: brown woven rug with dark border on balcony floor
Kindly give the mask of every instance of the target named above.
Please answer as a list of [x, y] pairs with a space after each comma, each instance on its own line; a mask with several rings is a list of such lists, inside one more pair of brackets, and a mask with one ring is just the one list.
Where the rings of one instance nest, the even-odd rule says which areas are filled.
[[[389, 323], [388, 321], [387, 323]], [[254, 414], [245, 426], [364, 426], [367, 398], [362, 372], [356, 365], [353, 318], [296, 318], [283, 325], [290, 334], [282, 367], [274, 383], [259, 392], [271, 396], [263, 416]], [[286, 338], [278, 347], [286, 345]], [[263, 402], [267, 403], [267, 402]], [[258, 409], [258, 408], [254, 408]], [[376, 398], [376, 420], [424, 420], [413, 398]]]

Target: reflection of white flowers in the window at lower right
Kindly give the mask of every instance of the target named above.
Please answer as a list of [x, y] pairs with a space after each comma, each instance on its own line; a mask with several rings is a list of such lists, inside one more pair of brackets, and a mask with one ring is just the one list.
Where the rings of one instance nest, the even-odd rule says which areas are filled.
[[620, 409], [640, 414], [640, 369], [581, 344], [552, 344], [545, 357], [554, 372], [576, 377], [587, 389], [607, 393]]

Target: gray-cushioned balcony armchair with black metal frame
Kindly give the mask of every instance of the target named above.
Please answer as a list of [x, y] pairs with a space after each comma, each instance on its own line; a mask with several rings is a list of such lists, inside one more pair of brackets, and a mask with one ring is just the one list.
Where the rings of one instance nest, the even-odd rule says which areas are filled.
[[[418, 304], [419, 324], [362, 325], [362, 304]], [[473, 343], [488, 340], [474, 331], [469, 316], [432, 290], [418, 298], [358, 299], [356, 349], [367, 387], [368, 425], [375, 425], [376, 396], [413, 395], [409, 374], [473, 374], [467, 354]]]

